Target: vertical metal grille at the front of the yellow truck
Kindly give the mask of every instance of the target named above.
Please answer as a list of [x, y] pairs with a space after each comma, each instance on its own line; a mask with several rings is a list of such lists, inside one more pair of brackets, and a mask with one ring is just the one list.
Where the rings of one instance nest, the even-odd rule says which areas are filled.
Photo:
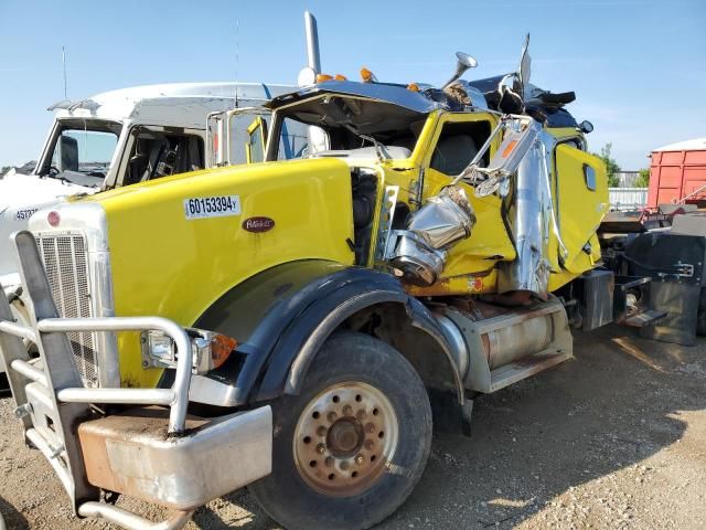
[[[88, 283], [88, 253], [83, 234], [41, 234], [36, 244], [60, 317], [94, 317]], [[84, 384], [98, 386], [95, 333], [82, 331], [66, 335]]]

